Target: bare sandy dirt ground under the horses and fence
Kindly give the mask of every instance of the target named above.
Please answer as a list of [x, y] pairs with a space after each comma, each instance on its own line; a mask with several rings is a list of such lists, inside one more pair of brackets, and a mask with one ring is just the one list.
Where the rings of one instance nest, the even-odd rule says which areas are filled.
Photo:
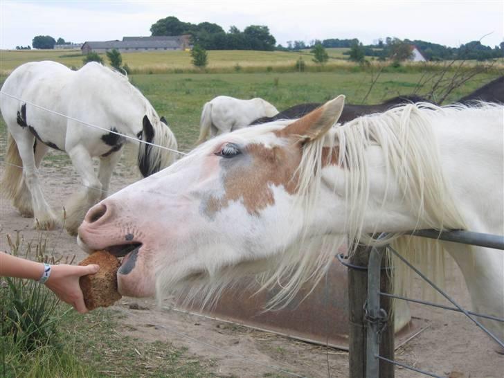
[[[130, 163], [123, 163], [111, 180], [117, 191], [138, 179]], [[0, 164], [0, 173], [4, 170]], [[53, 208], [80, 189], [80, 179], [70, 165], [58, 156], [42, 165], [42, 188]], [[20, 231], [24, 242], [37, 240], [33, 219], [20, 217], [9, 201], [0, 203], [0, 249], [8, 249], [6, 235]], [[55, 255], [84, 258], [75, 237], [57, 230], [42, 233], [47, 251]], [[453, 264], [451, 265], [453, 267]], [[468, 305], [467, 290], [456, 268], [447, 272], [447, 291], [462, 305]], [[282, 336], [179, 312], [170, 303], [161, 307], [154, 300], [123, 298], [115, 306], [130, 336], [146, 341], [168, 341], [185, 346], [195, 358], [215, 362], [215, 373], [222, 377], [289, 377], [281, 370], [303, 377], [348, 377], [348, 353], [319, 345], [294, 341]], [[504, 355], [496, 344], [462, 314], [411, 306], [413, 316], [427, 319], [429, 327], [396, 351], [396, 359], [442, 377], [504, 377]], [[294, 375], [294, 376], [296, 376]], [[396, 368], [396, 377], [421, 377], [416, 372]]]

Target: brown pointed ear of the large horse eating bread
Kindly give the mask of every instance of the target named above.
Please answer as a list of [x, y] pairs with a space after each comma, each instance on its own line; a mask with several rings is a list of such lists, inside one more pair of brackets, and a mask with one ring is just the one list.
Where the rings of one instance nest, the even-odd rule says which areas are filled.
[[336, 123], [343, 111], [343, 105], [345, 105], [345, 96], [340, 95], [286, 126], [280, 134], [282, 136], [299, 136], [302, 139], [314, 141], [323, 136]]

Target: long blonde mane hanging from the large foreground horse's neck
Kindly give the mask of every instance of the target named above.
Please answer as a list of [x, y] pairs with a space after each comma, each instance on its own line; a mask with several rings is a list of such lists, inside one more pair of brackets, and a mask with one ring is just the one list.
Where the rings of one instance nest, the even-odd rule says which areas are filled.
[[[364, 214], [370, 195], [366, 151], [370, 145], [381, 146], [387, 172], [386, 182], [399, 179], [399, 188], [406, 203], [411, 204], [411, 212], [415, 214], [417, 224], [437, 230], [465, 228], [462, 215], [453, 202], [449, 183], [440, 168], [438, 142], [429, 122], [440, 114], [451, 114], [462, 108], [461, 106], [442, 108], [427, 103], [402, 105], [383, 114], [363, 116], [343, 126], [336, 125], [325, 138], [305, 147], [298, 170], [300, 177], [298, 201], [305, 212], [303, 224], [310, 224], [310, 219], [314, 217], [314, 204], [323, 185], [321, 171], [324, 147], [339, 147], [338, 165], [343, 168], [345, 174], [345, 201], [352, 210], [346, 219], [346, 228], [341, 230], [340, 235], [324, 237], [325, 248], [307, 248], [305, 239], [310, 231], [305, 229], [301, 240], [285, 251], [285, 255], [289, 255], [289, 258], [281, 259], [278, 269], [266, 273], [269, 275], [262, 281], [262, 288], [265, 289], [272, 287], [282, 278], [289, 277], [269, 305], [288, 303], [308, 278], [313, 278], [314, 282], [321, 280], [336, 251], [345, 244], [352, 246], [349, 253], [353, 253], [358, 244], [404, 245], [401, 240], [406, 238], [411, 251], [415, 251], [415, 255], [421, 255], [422, 261], [443, 260], [440, 249], [433, 248], [435, 241], [401, 237], [402, 233], [389, 233], [384, 240], [377, 243], [369, 233], [363, 232]], [[388, 187], [382, 206], [387, 199], [387, 189]], [[308, 240], [308, 244], [311, 243], [312, 240]], [[301, 257], [294, 267], [293, 256]], [[400, 269], [395, 271], [397, 276], [403, 276]]]

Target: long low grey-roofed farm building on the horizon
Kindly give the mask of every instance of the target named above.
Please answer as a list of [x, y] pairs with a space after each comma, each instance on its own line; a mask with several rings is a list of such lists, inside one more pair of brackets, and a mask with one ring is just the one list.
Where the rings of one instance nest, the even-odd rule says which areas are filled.
[[186, 50], [190, 48], [190, 35], [163, 35], [157, 37], [123, 37], [122, 41], [84, 42], [82, 54], [106, 53], [116, 49], [120, 53], [142, 51]]

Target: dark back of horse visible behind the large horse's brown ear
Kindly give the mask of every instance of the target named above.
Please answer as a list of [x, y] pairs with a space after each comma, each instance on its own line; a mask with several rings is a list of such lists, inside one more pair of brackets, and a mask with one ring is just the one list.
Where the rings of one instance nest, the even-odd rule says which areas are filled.
[[[381, 113], [395, 107], [396, 105], [404, 104], [406, 102], [431, 102], [422, 98], [420, 96], [397, 96], [395, 98], [390, 98], [386, 102], [377, 105], [345, 105], [343, 108], [343, 113], [339, 118], [339, 122], [345, 123], [349, 120], [357, 118], [359, 116], [364, 116], [366, 114]], [[294, 119], [301, 118], [308, 114], [310, 111], [320, 107], [322, 104], [319, 102], [309, 102], [307, 104], [295, 105], [294, 107], [289, 107], [284, 111], [280, 111], [276, 116], [273, 117], [262, 117], [258, 118], [251, 123], [251, 125], [260, 125], [261, 123], [271, 122], [273, 120], [283, 120], [283, 119]]]

